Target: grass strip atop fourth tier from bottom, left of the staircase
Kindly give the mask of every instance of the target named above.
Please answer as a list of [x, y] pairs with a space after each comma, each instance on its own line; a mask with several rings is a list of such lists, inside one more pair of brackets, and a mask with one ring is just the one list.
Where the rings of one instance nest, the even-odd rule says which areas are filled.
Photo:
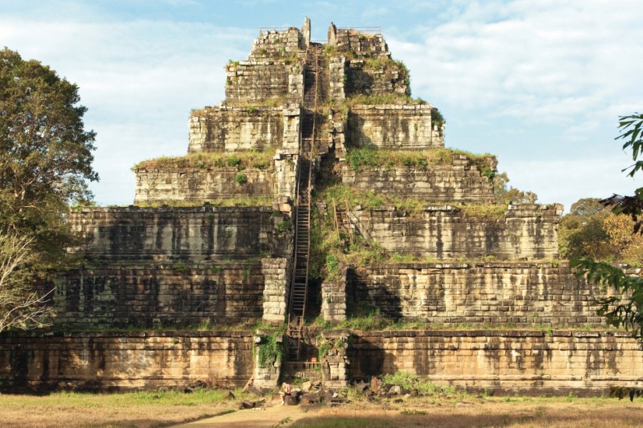
[[157, 168], [196, 168], [202, 170], [254, 168], [271, 170], [274, 151], [241, 151], [236, 153], [190, 153], [186, 156], [161, 157], [142, 161], [131, 169], [153, 170]]

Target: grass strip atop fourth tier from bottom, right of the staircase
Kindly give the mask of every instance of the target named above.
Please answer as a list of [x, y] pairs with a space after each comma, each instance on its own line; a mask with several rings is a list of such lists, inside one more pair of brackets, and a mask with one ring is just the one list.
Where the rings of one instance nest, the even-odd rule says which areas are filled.
[[451, 165], [454, 155], [464, 155], [470, 165], [475, 165], [482, 173], [485, 169], [493, 169], [495, 157], [489, 153], [476, 154], [449, 148], [436, 148], [425, 151], [397, 151], [377, 148], [350, 148], [346, 160], [353, 170], [384, 168], [392, 169], [405, 166], [419, 170], [437, 165]]

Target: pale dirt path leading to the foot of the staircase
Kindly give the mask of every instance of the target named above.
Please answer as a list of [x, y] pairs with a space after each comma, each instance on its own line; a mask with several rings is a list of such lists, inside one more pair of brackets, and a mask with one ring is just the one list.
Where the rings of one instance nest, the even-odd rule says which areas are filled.
[[271, 406], [265, 410], [246, 409], [221, 416], [201, 419], [189, 424], [174, 425], [174, 428], [270, 428], [287, 417], [294, 422], [306, 416], [299, 406]]

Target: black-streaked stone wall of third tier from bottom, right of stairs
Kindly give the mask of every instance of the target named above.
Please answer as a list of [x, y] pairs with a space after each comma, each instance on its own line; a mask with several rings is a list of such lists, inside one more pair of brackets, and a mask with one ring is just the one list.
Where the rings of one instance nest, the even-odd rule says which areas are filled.
[[427, 258], [552, 260], [558, 257], [562, 205], [509, 205], [501, 218], [470, 217], [447, 206], [422, 215], [404, 210], [352, 210], [352, 224], [389, 251]]

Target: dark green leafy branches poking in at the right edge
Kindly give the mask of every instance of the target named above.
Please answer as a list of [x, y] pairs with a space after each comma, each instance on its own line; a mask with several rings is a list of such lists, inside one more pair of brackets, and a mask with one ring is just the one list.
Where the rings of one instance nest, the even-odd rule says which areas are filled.
[[[628, 175], [633, 177], [643, 170], [643, 161], [638, 160], [643, 155], [643, 115], [634, 113], [619, 119], [621, 134], [616, 139], [625, 140], [624, 150], [632, 148], [634, 164], [624, 170], [630, 169]], [[634, 222], [632, 234], [643, 233], [643, 188], [634, 190], [634, 196], [612, 195], [601, 203], [614, 213], [629, 215]], [[616, 295], [596, 300], [597, 313], [607, 318], [608, 325], [623, 326], [643, 337], [643, 277], [626, 275], [619, 267], [590, 259], [572, 259], [570, 265], [576, 267], [578, 276], [587, 275], [588, 280], [614, 290]]]

